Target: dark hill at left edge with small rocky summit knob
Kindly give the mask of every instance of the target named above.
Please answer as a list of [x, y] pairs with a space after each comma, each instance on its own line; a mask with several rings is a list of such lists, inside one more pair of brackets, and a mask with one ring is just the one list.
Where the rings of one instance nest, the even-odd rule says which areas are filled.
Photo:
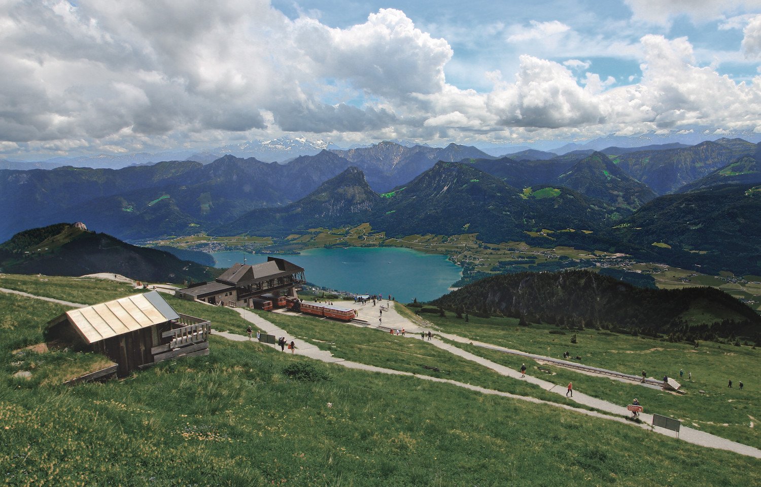
[[218, 274], [218, 270], [180, 261], [168, 252], [135, 247], [68, 223], [20, 232], [0, 245], [0, 252], [0, 270], [16, 274], [81, 276], [107, 272], [169, 283], [212, 280]]

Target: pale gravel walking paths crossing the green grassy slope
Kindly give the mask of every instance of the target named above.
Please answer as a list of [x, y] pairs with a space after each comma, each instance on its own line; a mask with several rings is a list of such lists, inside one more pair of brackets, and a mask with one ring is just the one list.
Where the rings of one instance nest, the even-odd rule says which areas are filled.
[[[23, 293], [21, 291], [15, 291], [13, 289], [0, 288], [0, 292], [17, 294], [19, 296], [24, 296], [27, 298], [42, 299], [44, 301], [49, 301], [49, 302], [57, 302], [59, 304], [72, 306], [74, 308], [83, 308], [84, 306], [86, 306], [79, 303], [63, 301], [61, 299], [35, 296], [33, 294]], [[352, 302], [343, 302], [340, 304], [347, 305], [350, 307], [356, 307], [355, 303], [352, 303]], [[412, 323], [412, 321], [409, 321], [407, 318], [403, 317], [398, 312], [396, 312], [393, 302], [386, 302], [386, 305], [388, 306], [388, 308], [384, 306], [384, 313], [383, 313], [384, 327], [398, 328], [398, 329], [404, 328], [406, 332], [409, 333], [409, 336], [406, 337], [406, 338], [409, 338], [409, 340], [419, 340], [418, 337], [420, 333], [422, 331], [427, 331], [427, 329], [422, 328], [421, 326], [419, 326], [419, 324]], [[368, 318], [367, 315], [373, 314], [374, 310], [376, 309], [378, 311], [380, 310], [380, 308], [377, 308], [377, 307], [373, 308], [371, 306], [368, 307], [368, 305], [360, 306], [358, 309], [360, 310], [360, 317], [362, 319], [365, 319], [366, 321], [371, 321], [371, 322], [373, 322], [372, 318]], [[268, 321], [265, 318], [262, 318], [260, 315], [256, 315], [256, 313], [254, 313], [253, 311], [250, 311], [244, 308], [234, 308], [234, 310], [237, 311], [246, 321], [250, 321], [250, 323], [254, 324], [257, 328], [259, 328], [266, 334], [275, 335], [275, 337], [289, 337], [290, 336], [290, 334], [288, 334], [286, 330], [283, 330], [282, 328], [276, 326], [275, 324], [272, 324], [271, 321]], [[358, 326], [364, 327], [365, 325], [358, 325]], [[371, 324], [370, 326], [377, 328], [378, 326], [380, 326], [380, 323], [377, 325]], [[249, 338], [245, 337], [244, 335], [232, 334], [227, 331], [213, 330], [213, 333], [215, 335], [218, 335], [220, 337], [224, 337], [228, 340], [233, 340], [233, 341], [249, 340]], [[498, 347], [498, 346], [494, 346], [488, 343], [477, 342], [475, 340], [469, 340], [467, 338], [460, 337], [454, 334], [445, 334], [438, 331], [436, 332], [436, 334], [440, 337], [444, 337], [447, 340], [451, 340], [456, 343], [482, 344], [482, 345], [489, 345], [489, 347], [492, 349], [502, 349], [501, 347]], [[552, 403], [550, 401], [540, 400], [535, 397], [520, 396], [517, 394], [510, 394], [507, 392], [495, 391], [492, 389], [487, 389], [486, 387], [479, 387], [473, 384], [465, 384], [463, 382], [452, 381], [450, 379], [436, 378], [436, 377], [431, 377], [430, 375], [412, 374], [412, 372], [402, 372], [402, 371], [394, 370], [392, 368], [376, 367], [374, 365], [367, 365], [367, 364], [363, 364], [359, 362], [352, 362], [349, 360], [334, 357], [333, 354], [331, 354], [330, 352], [326, 350], [322, 350], [318, 346], [298, 338], [291, 337], [288, 339], [288, 341], [293, 341], [295, 343], [296, 349], [293, 351], [295, 355], [306, 356], [306, 357], [309, 357], [310, 359], [320, 360], [322, 362], [335, 363], [337, 365], [343, 365], [344, 367], [347, 367], [347, 368], [355, 368], [359, 370], [365, 370], [369, 372], [379, 372], [383, 374], [409, 375], [409, 376], [419, 378], [425, 381], [442, 382], [446, 384], [452, 384], [457, 387], [464, 387], [466, 389], [470, 389], [471, 391], [476, 391], [482, 394], [492, 394], [492, 395], [501, 396], [501, 397], [510, 397], [511, 399], [524, 400], [530, 403], [547, 404], [549, 406], [559, 407], [565, 410], [572, 410], [572, 411], [575, 411], [576, 413], [585, 414], [587, 416], [593, 416], [597, 418], [607, 419], [610, 421], [621, 422], [628, 425], [635, 425], [644, 429], [651, 428], [651, 426], [648, 425], [648, 423], [652, 423], [652, 415], [641, 413], [640, 417], [643, 421], [642, 424], [630, 422], [624, 419], [623, 417], [623, 416], [629, 415], [629, 411], [626, 410], [626, 407], [619, 406], [618, 404], [610, 403], [606, 400], [597, 399], [596, 397], [591, 397], [587, 394], [583, 394], [578, 391], [575, 391], [573, 397], [570, 397], [569, 399], [572, 399], [579, 404], [584, 404], [585, 406], [594, 407], [596, 410], [600, 410], [605, 413], [584, 410], [574, 406], [568, 406], [566, 404]], [[500, 365], [496, 362], [492, 362], [489, 359], [484, 359], [483, 357], [473, 355], [473, 353], [466, 352], [465, 350], [460, 349], [457, 346], [454, 346], [451, 343], [448, 343], [444, 340], [440, 340], [438, 338], [432, 338], [431, 340], [425, 340], [425, 341], [426, 343], [431, 343], [432, 346], [438, 346], [438, 348], [444, 349], [449, 353], [453, 353], [454, 355], [460, 356], [463, 359], [467, 359], [472, 362], [476, 362], [480, 365], [483, 365], [487, 368], [491, 368], [492, 370], [494, 370], [495, 372], [498, 372], [501, 375], [515, 378], [517, 380], [525, 380], [527, 382], [530, 382], [531, 384], [537, 384], [539, 387], [542, 387], [546, 391], [555, 392], [557, 394], [565, 394], [565, 387], [558, 386], [557, 384], [552, 384], [549, 381], [544, 381], [543, 379], [536, 378], [530, 375], [526, 375], [526, 377], [521, 378], [521, 372], [518, 372], [512, 368], [505, 367], [505, 365]], [[278, 348], [278, 346], [274, 344], [270, 346], [272, 346], [275, 349]], [[608, 414], [606, 413], [615, 414], [617, 416], [608, 416]], [[664, 428], [655, 427], [653, 431], [661, 433], [662, 435], [673, 435], [673, 432]], [[693, 428], [688, 428], [684, 425], [681, 426], [680, 428], [679, 438], [688, 443], [698, 444], [704, 447], [712, 447], [712, 448], [718, 448], [721, 450], [734, 451], [735, 453], [738, 453], [738, 454], [743, 454], [743, 455], [747, 455], [747, 456], [755, 457], [755, 458], [761, 458], [761, 450], [759, 450], [756, 447], [751, 447], [746, 444], [737, 443], [736, 441], [730, 441], [726, 438], [721, 438], [706, 432], [701, 432]]]

